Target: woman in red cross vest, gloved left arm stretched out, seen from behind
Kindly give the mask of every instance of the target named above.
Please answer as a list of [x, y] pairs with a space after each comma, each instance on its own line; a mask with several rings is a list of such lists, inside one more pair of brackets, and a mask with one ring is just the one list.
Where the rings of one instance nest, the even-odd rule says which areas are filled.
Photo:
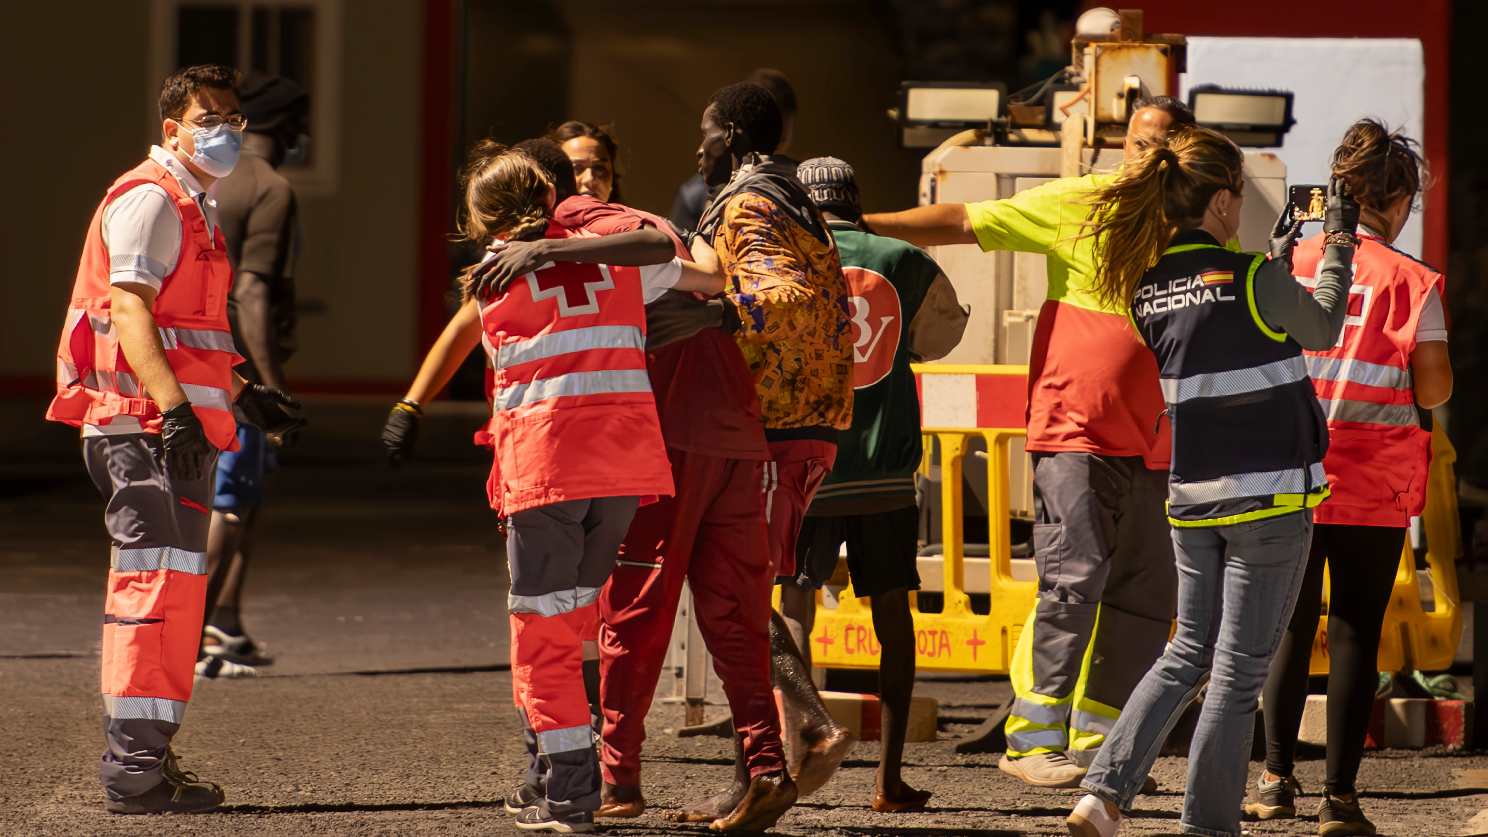
[[479, 436], [496, 453], [487, 489], [507, 534], [512, 685], [530, 752], [506, 804], [519, 828], [570, 833], [592, 831], [600, 806], [583, 676], [600, 587], [637, 505], [673, 494], [646, 375], [644, 303], [722, 282], [677, 259], [659, 230], [586, 236], [554, 223], [557, 180], [530, 153], [476, 146], [461, 175], [461, 235], [497, 251], [525, 241], [554, 257], [518, 275], [464, 272], [464, 306], [394, 406], [384, 443], [397, 464], [423, 398], [485, 345], [493, 418]]

